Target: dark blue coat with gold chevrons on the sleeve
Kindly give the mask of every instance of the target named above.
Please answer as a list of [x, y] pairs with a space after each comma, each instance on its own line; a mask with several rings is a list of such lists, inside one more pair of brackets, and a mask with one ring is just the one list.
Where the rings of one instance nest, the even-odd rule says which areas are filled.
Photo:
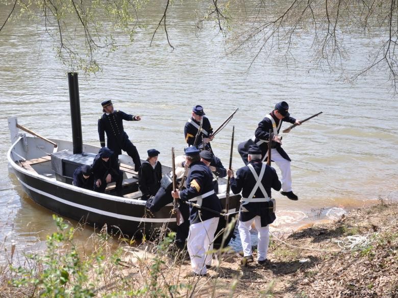
[[[188, 201], [189, 199], [193, 199], [194, 197], [201, 196], [213, 190], [213, 175], [209, 167], [202, 161], [192, 162], [187, 177], [187, 188], [180, 192], [181, 200]], [[221, 212], [221, 203], [216, 194], [203, 198], [202, 206], [216, 212]], [[200, 212], [201, 218], [199, 218], [199, 209], [189, 206], [190, 224], [196, 224], [201, 222], [201, 220], [206, 221], [219, 216], [216, 213], [204, 209]]]

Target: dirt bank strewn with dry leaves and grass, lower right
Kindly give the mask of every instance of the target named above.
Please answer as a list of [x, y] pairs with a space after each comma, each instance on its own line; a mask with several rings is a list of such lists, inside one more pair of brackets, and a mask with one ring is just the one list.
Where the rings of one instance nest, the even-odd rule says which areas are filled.
[[[218, 268], [209, 270], [213, 278], [201, 278], [194, 296], [398, 297], [396, 203], [380, 201], [353, 209], [337, 221], [296, 231], [283, 241], [271, 236], [271, 263], [265, 266], [254, 262], [242, 267], [238, 254], [226, 254]], [[179, 274], [189, 270], [185, 261]]]

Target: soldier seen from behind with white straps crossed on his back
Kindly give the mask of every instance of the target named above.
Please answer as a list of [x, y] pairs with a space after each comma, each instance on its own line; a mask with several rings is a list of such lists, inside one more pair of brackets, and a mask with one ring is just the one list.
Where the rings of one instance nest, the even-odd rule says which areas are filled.
[[281, 189], [274, 168], [261, 162], [262, 151], [257, 145], [248, 149], [248, 164], [236, 172], [228, 169], [231, 178], [231, 190], [234, 194], [242, 192], [239, 211], [239, 235], [243, 247], [242, 265], [253, 262], [250, 228], [254, 221], [258, 231], [257, 262], [267, 262], [269, 245], [269, 224], [275, 221], [275, 200], [271, 199], [271, 187], [276, 191]]

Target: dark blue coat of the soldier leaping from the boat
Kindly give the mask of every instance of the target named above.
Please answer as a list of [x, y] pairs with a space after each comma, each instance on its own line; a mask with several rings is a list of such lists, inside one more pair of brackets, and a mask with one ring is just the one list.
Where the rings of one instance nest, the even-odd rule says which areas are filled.
[[[296, 122], [296, 119], [293, 118], [293, 117], [290, 117], [290, 116], [289, 117], [285, 117], [282, 120], [279, 120], [275, 116], [275, 114], [273, 114], [273, 111], [269, 115], [271, 115], [273, 120], [275, 120], [275, 124], [277, 125], [277, 127], [279, 126], [279, 122], [280, 121], [289, 122], [289, 123], [292, 123], [292, 124], [294, 124]], [[279, 130], [281, 129], [281, 126], [282, 125], [279, 126], [278, 133], [279, 133]], [[247, 161], [248, 147], [250, 145], [256, 144], [260, 140], [268, 141], [269, 140], [269, 129], [271, 129], [273, 131], [272, 122], [267, 117], [264, 117], [264, 119], [258, 124], [258, 127], [257, 127], [257, 129], [255, 131], [255, 134], [254, 134], [255, 137], [256, 137], [255, 141], [253, 142], [253, 140], [250, 139], [250, 140], [247, 140], [246, 142], [240, 143], [238, 145], [238, 152], [239, 152], [240, 156], [242, 157], [243, 162], [244, 162], [245, 165], [248, 164], [248, 161]], [[273, 132], [271, 132], [271, 139], [272, 138], [273, 138]], [[265, 154], [267, 153], [267, 150], [268, 150], [268, 143], [262, 143], [262, 144], [259, 145], [259, 147], [261, 149], [261, 155], [262, 155], [262, 157], [264, 157]], [[285, 150], [283, 150], [283, 148], [281, 147], [281, 144], [279, 144], [277, 142], [272, 142], [272, 148], [276, 148], [277, 151], [279, 152], [279, 154], [281, 154], [283, 158], [291, 161], [289, 156], [285, 152]]]

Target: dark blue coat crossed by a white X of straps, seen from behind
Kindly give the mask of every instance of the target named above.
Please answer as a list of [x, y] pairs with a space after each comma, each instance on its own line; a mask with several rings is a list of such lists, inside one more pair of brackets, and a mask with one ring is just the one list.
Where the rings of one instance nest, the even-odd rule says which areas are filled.
[[[257, 175], [260, 175], [263, 164], [261, 160], [251, 160], [250, 164], [253, 165]], [[257, 180], [254, 178], [252, 171], [245, 166], [236, 172], [236, 178], [231, 178], [231, 190], [234, 194], [242, 192], [242, 197], [247, 198], [253, 191], [256, 182]], [[278, 179], [277, 172], [270, 166], [266, 166], [261, 183], [263, 184], [269, 198], [271, 198], [271, 187], [276, 191], [281, 189], [281, 181]], [[253, 198], [264, 198], [260, 188], [257, 189]], [[242, 208], [245, 208], [247, 212], [242, 212]], [[272, 212], [271, 202], [253, 202], [241, 205], [241, 210], [239, 212], [240, 221], [247, 222], [253, 219], [256, 215], [261, 216], [262, 227], [271, 224], [276, 219], [275, 213]]]

